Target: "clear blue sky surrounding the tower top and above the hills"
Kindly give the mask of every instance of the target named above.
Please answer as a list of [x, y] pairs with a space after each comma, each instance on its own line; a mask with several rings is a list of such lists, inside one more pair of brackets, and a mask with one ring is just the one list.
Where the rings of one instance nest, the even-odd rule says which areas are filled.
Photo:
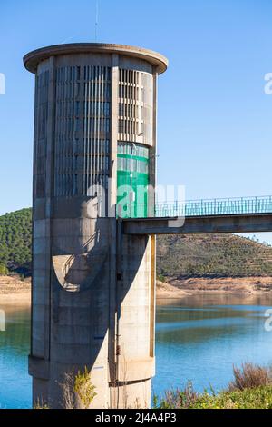
[[[0, 214], [31, 205], [34, 76], [22, 57], [95, 41], [95, 4], [1, 1]], [[160, 184], [185, 184], [187, 198], [271, 194], [272, 2], [100, 0], [99, 10], [99, 42], [170, 60], [159, 82]]]

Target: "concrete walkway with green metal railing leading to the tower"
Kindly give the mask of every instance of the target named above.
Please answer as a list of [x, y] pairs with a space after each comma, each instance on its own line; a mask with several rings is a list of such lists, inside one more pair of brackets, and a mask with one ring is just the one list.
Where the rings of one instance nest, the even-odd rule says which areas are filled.
[[123, 219], [122, 229], [126, 234], [272, 232], [272, 196], [156, 204], [151, 217]]

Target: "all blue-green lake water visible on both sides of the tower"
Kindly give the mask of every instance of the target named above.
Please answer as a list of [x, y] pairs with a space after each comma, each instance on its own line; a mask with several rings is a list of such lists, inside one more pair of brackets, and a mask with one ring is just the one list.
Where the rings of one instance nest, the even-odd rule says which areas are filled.
[[[272, 295], [236, 297], [204, 294], [157, 305], [156, 363], [153, 392], [182, 387], [188, 380], [202, 391], [228, 385], [232, 366], [242, 362], [272, 364], [272, 332], [265, 312]], [[0, 408], [31, 406], [27, 374], [30, 313], [5, 310], [6, 331], [0, 332]]]

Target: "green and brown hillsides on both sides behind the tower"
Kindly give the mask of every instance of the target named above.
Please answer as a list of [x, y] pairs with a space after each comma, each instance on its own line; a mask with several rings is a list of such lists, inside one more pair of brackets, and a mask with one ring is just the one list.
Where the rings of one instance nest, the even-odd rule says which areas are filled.
[[[31, 272], [32, 210], [0, 216], [0, 274]], [[189, 276], [272, 275], [272, 247], [233, 234], [158, 236], [157, 273]]]

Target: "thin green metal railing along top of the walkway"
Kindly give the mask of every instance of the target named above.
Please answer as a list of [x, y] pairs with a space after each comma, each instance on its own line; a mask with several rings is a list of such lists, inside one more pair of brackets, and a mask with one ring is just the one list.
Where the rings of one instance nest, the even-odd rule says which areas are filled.
[[[149, 212], [148, 216], [173, 217], [173, 216], [205, 216], [229, 214], [272, 214], [272, 195], [260, 197], [234, 197], [226, 199], [201, 199], [186, 202], [160, 203], [154, 206], [141, 206], [139, 213], [133, 217], [142, 216], [142, 208]], [[132, 217], [130, 204], [126, 205], [124, 217]]]

